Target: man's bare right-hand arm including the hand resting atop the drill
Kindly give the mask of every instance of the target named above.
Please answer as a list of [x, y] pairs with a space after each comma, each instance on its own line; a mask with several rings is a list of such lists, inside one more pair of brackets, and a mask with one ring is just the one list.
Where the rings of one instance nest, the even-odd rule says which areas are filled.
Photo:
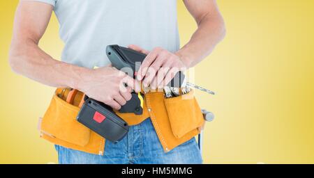
[[211, 54], [225, 36], [225, 24], [216, 0], [184, 0], [184, 3], [197, 22], [197, 30], [179, 51], [172, 54], [160, 47], [147, 51], [135, 45], [129, 46], [147, 54], [137, 74], [144, 86], [163, 88], [177, 72], [193, 67]]

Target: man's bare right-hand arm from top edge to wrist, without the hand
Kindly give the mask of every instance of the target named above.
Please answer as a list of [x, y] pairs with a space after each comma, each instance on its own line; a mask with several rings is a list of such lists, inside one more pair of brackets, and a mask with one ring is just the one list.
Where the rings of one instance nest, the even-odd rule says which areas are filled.
[[216, 0], [184, 0], [186, 8], [197, 22], [197, 30], [177, 55], [187, 67], [193, 67], [211, 54], [225, 37], [225, 24]]

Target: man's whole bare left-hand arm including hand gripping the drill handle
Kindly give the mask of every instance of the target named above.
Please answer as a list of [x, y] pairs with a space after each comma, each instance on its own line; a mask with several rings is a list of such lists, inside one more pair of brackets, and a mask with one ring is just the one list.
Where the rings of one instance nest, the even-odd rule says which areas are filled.
[[[63, 63], [38, 47], [52, 10], [53, 7], [47, 3], [20, 1], [9, 55], [13, 71], [48, 86], [81, 90], [89, 97], [119, 109], [131, 97], [130, 91], [134, 88], [132, 78], [113, 67], [90, 70]], [[123, 83], [128, 83], [130, 87], [124, 88]]]

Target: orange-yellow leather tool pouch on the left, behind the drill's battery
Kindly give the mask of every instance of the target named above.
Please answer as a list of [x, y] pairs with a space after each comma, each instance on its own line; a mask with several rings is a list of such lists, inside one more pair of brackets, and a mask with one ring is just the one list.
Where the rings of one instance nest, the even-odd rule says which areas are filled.
[[66, 102], [69, 91], [57, 88], [40, 122], [40, 136], [63, 147], [102, 155], [105, 139], [76, 120], [83, 93], [77, 92], [73, 104], [69, 104]]

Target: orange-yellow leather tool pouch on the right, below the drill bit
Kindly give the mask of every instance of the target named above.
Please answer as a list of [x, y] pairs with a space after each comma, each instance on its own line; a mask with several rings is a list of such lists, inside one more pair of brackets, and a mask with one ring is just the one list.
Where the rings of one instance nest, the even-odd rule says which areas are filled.
[[151, 122], [165, 152], [200, 133], [204, 118], [193, 90], [172, 98], [165, 98], [163, 92], [148, 92], [145, 99]]

